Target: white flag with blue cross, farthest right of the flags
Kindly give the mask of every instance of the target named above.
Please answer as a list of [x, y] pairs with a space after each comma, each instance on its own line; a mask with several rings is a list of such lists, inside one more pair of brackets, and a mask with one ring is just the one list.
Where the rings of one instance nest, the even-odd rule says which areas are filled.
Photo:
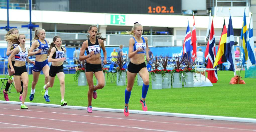
[[247, 60], [247, 70], [255, 64], [255, 51], [254, 51], [254, 40], [253, 40], [253, 26], [252, 26], [252, 14], [250, 19], [250, 24], [248, 28], [248, 34], [246, 37], [248, 60]]

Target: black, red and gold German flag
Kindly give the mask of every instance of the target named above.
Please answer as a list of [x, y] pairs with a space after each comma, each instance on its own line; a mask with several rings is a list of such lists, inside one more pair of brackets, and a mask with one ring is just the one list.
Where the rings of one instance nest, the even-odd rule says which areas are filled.
[[213, 67], [215, 67], [218, 64], [222, 64], [223, 62], [227, 62], [227, 59], [225, 57], [226, 42], [227, 42], [227, 28], [226, 28], [225, 19], [224, 19], [221, 36], [220, 36], [218, 52], [217, 52]]

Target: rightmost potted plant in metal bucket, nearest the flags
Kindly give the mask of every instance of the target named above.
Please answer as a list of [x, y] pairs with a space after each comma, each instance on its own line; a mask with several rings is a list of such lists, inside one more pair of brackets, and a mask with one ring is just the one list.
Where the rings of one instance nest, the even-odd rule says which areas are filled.
[[[191, 58], [186, 58], [184, 63], [184, 87], [194, 87], [194, 73], [196, 69], [193, 68], [196, 65], [197, 61], [193, 61]], [[196, 75], [196, 74], [195, 74]], [[196, 78], [196, 77], [195, 77]]]

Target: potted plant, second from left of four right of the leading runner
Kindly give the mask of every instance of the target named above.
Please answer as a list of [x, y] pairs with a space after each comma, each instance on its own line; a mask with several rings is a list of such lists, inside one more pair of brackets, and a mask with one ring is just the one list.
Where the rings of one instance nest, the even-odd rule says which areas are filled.
[[170, 89], [171, 88], [171, 84], [170, 84], [170, 80], [171, 80], [171, 70], [167, 70], [167, 68], [169, 67], [169, 62], [168, 62], [168, 59], [169, 59], [169, 56], [168, 55], [165, 55], [163, 57], [163, 60], [162, 60], [162, 67], [163, 67], [163, 70], [162, 70], [162, 88], [163, 89]]

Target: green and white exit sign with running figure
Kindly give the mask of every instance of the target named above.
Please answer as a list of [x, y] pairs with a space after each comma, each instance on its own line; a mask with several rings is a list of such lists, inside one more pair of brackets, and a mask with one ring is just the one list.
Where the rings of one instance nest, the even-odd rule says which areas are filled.
[[105, 15], [105, 24], [125, 25], [125, 15]]

